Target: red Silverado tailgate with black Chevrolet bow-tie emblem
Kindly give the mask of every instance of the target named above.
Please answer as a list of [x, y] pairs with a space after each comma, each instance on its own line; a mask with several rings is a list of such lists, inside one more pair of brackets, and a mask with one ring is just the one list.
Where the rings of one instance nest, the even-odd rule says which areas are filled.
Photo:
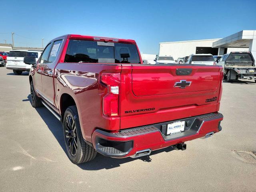
[[123, 66], [120, 128], [216, 112], [221, 71], [219, 66]]

